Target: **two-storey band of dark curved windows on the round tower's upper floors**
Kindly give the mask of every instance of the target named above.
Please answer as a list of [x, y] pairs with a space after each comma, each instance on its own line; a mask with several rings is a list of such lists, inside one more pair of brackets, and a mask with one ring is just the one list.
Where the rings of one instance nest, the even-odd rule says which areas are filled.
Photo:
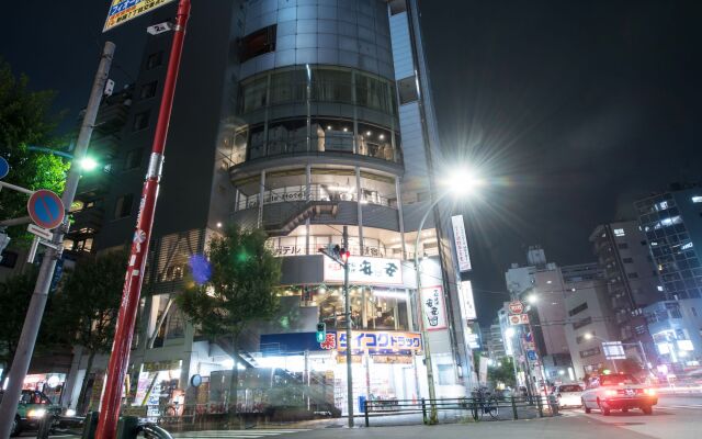
[[[401, 162], [395, 83], [355, 69], [296, 66], [240, 85], [227, 135], [231, 162], [288, 154], [347, 153]], [[230, 138], [229, 138], [230, 137]]]

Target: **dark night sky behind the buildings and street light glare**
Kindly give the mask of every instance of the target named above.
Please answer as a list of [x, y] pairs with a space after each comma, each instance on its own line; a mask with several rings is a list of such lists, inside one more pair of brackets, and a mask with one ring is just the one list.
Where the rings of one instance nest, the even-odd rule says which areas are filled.
[[[64, 127], [87, 102], [109, 1], [70, 3], [11, 2], [0, 26], [0, 56], [59, 91]], [[633, 218], [633, 201], [669, 182], [700, 181], [702, 2], [420, 4], [446, 158], [490, 181], [464, 212], [482, 323], [526, 246], [558, 264], [591, 261], [596, 225]], [[118, 88], [136, 76], [146, 33], [134, 29], [147, 21], [109, 35]]]

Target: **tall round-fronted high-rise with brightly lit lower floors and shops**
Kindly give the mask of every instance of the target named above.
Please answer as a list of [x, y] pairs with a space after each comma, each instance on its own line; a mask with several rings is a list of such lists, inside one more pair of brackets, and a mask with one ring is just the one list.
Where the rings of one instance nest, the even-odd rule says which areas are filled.
[[[169, 7], [159, 10], [152, 22], [170, 14]], [[83, 214], [100, 207], [92, 249], [131, 241], [169, 44], [167, 33], [149, 37], [111, 180], [92, 204], [81, 198]], [[167, 383], [214, 402], [239, 364], [245, 383], [263, 369], [299, 385], [304, 375], [324, 387], [312, 405], [346, 409], [342, 277], [318, 249], [340, 245], [348, 227], [359, 345], [353, 397], [428, 396], [419, 336], [426, 307], [433, 313], [426, 341], [437, 395], [465, 394], [473, 361], [443, 209], [414, 245], [435, 196], [438, 148], [416, 0], [194, 4], [132, 353], [137, 387]], [[189, 258], [228, 223], [264, 229], [283, 259], [281, 315], [247, 331], [238, 358], [225, 340], [199, 334], [172, 300]], [[86, 249], [81, 239], [75, 249]], [[422, 259], [421, 292], [415, 255]], [[331, 336], [322, 344], [315, 340], [319, 322]], [[75, 361], [69, 381], [79, 381], [84, 363]], [[104, 359], [97, 360], [101, 368]], [[197, 374], [207, 386], [190, 385]], [[144, 397], [137, 392], [135, 402]]]

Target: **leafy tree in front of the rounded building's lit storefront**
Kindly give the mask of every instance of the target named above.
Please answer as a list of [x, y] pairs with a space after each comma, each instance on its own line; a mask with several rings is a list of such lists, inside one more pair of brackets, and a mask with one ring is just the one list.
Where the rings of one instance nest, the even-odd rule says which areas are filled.
[[[229, 405], [236, 412], [239, 336], [254, 320], [271, 319], [279, 308], [281, 262], [265, 247], [260, 229], [228, 227], [210, 239], [208, 267], [191, 263], [195, 282], [176, 297], [188, 318], [212, 340], [226, 339], [234, 364]], [[199, 267], [196, 269], [196, 267]]]

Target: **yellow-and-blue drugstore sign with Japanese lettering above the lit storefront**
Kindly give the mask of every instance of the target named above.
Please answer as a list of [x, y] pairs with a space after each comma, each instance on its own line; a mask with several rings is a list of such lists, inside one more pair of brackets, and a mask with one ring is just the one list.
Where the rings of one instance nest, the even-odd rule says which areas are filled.
[[[347, 350], [347, 333], [337, 331], [337, 350]], [[421, 335], [396, 330], [353, 330], [351, 331], [351, 351], [369, 353], [419, 353]]]

